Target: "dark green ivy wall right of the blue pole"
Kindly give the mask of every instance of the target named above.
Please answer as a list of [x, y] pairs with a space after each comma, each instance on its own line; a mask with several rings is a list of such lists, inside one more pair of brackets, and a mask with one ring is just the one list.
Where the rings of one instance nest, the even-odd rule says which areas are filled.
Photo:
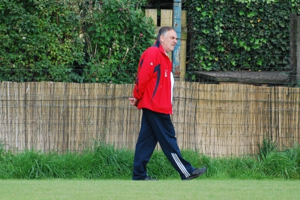
[[187, 79], [196, 70], [287, 70], [289, 16], [300, 0], [186, 0]]

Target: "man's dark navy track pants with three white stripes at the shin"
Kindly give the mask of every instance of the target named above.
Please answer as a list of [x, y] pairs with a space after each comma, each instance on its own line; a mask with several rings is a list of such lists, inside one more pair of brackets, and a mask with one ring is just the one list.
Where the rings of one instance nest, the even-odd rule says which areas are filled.
[[146, 165], [157, 141], [181, 179], [188, 177], [194, 171], [195, 168], [182, 158], [170, 115], [143, 108], [133, 160], [133, 180], [147, 177]]

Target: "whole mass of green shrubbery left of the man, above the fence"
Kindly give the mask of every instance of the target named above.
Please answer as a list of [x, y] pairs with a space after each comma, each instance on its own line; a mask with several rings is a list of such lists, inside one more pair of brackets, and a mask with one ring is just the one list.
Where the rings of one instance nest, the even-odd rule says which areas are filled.
[[0, 80], [132, 82], [154, 34], [145, 3], [1, 0]]

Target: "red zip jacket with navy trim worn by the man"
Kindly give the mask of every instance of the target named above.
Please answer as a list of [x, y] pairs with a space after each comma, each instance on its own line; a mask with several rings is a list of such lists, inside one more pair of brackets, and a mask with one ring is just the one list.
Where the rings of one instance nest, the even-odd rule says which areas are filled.
[[159, 40], [147, 48], [139, 59], [133, 97], [139, 99], [137, 108], [171, 114], [172, 63]]

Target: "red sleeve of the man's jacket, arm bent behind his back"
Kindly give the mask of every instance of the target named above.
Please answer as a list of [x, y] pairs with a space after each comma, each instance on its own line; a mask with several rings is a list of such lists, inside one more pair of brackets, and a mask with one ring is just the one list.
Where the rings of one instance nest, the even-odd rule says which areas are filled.
[[140, 99], [153, 76], [156, 63], [157, 51], [147, 50], [139, 60], [135, 86], [133, 89], [133, 97]]

